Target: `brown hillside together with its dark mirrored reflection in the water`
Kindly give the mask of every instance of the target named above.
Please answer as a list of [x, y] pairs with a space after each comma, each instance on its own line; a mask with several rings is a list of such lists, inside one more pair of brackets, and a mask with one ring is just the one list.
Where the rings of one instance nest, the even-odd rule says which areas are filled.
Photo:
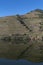
[[43, 10], [0, 18], [0, 57], [43, 62]]

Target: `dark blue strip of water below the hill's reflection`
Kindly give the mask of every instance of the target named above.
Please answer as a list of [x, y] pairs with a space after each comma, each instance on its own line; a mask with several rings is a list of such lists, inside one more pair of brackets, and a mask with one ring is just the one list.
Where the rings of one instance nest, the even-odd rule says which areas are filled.
[[27, 60], [0, 59], [0, 65], [43, 65], [43, 62], [35, 63], [35, 62], [27, 61]]

